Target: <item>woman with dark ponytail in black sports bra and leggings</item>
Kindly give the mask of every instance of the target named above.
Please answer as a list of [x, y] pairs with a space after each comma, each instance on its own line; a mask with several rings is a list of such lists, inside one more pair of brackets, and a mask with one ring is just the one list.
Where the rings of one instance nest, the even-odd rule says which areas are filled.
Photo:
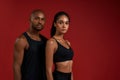
[[[47, 80], [73, 80], [73, 51], [70, 47], [70, 42], [64, 39], [69, 23], [70, 17], [65, 12], [58, 12], [54, 16], [51, 38], [46, 45]], [[54, 72], [52, 72], [53, 68]]]

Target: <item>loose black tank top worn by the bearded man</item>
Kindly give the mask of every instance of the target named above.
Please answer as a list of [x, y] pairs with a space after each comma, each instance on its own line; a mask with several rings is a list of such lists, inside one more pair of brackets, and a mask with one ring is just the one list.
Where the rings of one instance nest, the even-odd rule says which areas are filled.
[[46, 80], [45, 73], [45, 45], [47, 39], [40, 35], [41, 41], [31, 39], [25, 32], [29, 48], [24, 50], [21, 66], [22, 80]]

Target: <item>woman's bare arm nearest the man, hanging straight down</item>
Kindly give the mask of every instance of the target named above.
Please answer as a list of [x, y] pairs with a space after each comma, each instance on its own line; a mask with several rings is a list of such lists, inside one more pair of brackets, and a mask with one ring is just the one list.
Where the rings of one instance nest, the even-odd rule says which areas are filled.
[[50, 39], [46, 44], [46, 75], [47, 80], [53, 80], [52, 67], [53, 67], [53, 54], [55, 52], [55, 41]]

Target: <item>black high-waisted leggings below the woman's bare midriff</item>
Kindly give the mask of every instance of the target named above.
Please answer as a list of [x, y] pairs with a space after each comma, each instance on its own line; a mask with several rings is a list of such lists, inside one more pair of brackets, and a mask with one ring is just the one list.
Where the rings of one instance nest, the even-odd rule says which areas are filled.
[[60, 71], [53, 72], [54, 80], [71, 80], [71, 73], [63, 73]]

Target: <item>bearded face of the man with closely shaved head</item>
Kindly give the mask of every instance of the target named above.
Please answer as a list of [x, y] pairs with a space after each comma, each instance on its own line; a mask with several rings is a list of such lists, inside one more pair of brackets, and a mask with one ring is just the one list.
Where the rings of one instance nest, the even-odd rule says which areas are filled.
[[37, 12], [30, 19], [32, 29], [41, 31], [45, 24], [45, 15], [42, 12]]

